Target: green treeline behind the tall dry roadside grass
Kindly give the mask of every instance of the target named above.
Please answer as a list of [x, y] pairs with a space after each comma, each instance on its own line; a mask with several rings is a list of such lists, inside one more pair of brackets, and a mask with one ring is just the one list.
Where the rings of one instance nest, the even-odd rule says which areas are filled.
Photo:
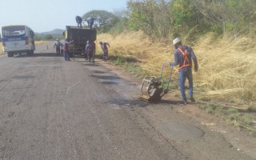
[[206, 32], [240, 34], [255, 31], [255, 0], [129, 0], [127, 10], [114, 14], [92, 10], [100, 32], [143, 30], [152, 38], [195, 38]]

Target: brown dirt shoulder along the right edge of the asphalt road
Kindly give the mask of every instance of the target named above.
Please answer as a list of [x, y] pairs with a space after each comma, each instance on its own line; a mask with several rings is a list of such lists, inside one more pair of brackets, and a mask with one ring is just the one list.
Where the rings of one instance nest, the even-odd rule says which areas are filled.
[[[105, 66], [115, 74], [118, 74], [121, 78], [136, 83], [139, 93], [139, 86], [141, 85], [142, 78], [136, 78], [134, 74], [123, 70], [119, 66], [114, 66], [111, 62], [99, 62], [102, 66]], [[251, 137], [245, 131], [239, 130], [235, 126], [231, 126], [221, 118], [206, 113], [205, 110], [198, 108], [197, 102], [184, 106], [180, 101], [181, 98], [170, 93], [162, 99], [162, 102], [158, 104], [158, 106], [149, 105], [147, 107], [136, 108], [135, 110], [147, 118], [157, 130], [158, 125], [164, 122], [184, 121], [184, 123], [194, 124], [201, 129], [206, 128], [207, 130], [210, 130], [210, 134], [220, 135], [221, 138], [230, 144], [227, 147], [243, 154], [250, 155], [252, 158], [256, 158], [256, 138]], [[180, 145], [180, 143], [178, 142], [177, 145]]]

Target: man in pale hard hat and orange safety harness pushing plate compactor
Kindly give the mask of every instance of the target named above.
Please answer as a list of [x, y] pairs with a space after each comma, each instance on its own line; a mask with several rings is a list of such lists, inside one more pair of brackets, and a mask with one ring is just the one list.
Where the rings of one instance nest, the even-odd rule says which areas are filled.
[[185, 94], [185, 81], [186, 78], [189, 81], [190, 89], [190, 100], [194, 101], [193, 97], [193, 76], [192, 76], [192, 60], [194, 61], [194, 71], [198, 71], [198, 61], [194, 55], [194, 51], [190, 46], [182, 46], [182, 40], [180, 38], [175, 38], [174, 41], [174, 61], [171, 62], [170, 66], [179, 66], [178, 67], [178, 78], [179, 78], [179, 89], [182, 94], [183, 104], [186, 105], [186, 94]]

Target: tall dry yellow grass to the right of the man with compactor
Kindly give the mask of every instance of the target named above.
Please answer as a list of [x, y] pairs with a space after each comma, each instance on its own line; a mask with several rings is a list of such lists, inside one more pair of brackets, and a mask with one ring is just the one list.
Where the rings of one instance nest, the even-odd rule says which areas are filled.
[[256, 56], [253, 39], [202, 38], [194, 48], [199, 71], [196, 81], [218, 97], [256, 100]]

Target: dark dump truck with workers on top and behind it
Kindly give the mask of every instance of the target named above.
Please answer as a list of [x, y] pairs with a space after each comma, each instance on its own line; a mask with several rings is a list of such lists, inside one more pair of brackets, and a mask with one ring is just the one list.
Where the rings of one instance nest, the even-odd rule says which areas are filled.
[[66, 31], [63, 34], [65, 38], [74, 41], [69, 45], [70, 57], [74, 57], [75, 54], [85, 54], [86, 42], [88, 40], [93, 42], [96, 40], [97, 30], [66, 26]]

